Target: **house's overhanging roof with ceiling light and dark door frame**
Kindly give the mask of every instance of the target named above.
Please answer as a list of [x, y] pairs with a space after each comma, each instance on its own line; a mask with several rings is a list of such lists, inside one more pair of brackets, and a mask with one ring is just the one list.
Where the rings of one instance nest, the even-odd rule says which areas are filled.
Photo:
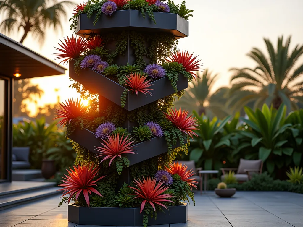
[[65, 74], [65, 68], [0, 34], [0, 182], [12, 181], [12, 104], [15, 79]]

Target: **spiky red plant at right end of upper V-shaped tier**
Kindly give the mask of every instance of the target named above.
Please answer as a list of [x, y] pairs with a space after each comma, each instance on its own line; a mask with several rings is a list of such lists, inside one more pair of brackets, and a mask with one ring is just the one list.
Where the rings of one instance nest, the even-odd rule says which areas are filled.
[[[198, 55], [193, 57], [193, 54], [188, 54], [188, 51], [180, 51], [178, 50], [175, 54], [171, 53], [171, 56], [168, 57], [169, 59], [166, 59], [169, 62], [178, 62], [179, 64], [182, 64], [183, 67], [185, 68], [185, 71], [189, 72], [194, 79], [195, 77], [199, 77], [197, 74], [195, 74], [194, 71], [201, 71], [201, 66], [199, 62], [201, 59], [196, 60], [198, 58]], [[196, 60], [196, 61], [195, 61]]]

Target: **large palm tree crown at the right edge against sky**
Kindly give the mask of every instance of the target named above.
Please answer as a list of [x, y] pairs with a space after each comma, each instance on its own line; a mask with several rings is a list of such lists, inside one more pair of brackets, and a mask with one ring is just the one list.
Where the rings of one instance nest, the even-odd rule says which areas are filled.
[[288, 111], [298, 109], [298, 103], [303, 102], [303, 64], [295, 67], [298, 58], [303, 54], [303, 45], [296, 45], [289, 53], [291, 36], [283, 44], [283, 36], [278, 38], [275, 50], [269, 39], [264, 39], [268, 56], [258, 48], [253, 48], [248, 57], [252, 58], [257, 66], [251, 68], [232, 68], [235, 74], [231, 77], [231, 94], [237, 90], [245, 90], [235, 105], [245, 105], [255, 101], [254, 107], [261, 107], [263, 103], [278, 107], [283, 102]]

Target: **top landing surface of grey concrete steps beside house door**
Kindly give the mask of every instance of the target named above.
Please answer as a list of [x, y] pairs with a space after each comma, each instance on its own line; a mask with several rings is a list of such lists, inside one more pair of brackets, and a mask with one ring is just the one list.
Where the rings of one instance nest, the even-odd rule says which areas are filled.
[[0, 198], [10, 196], [12, 194], [24, 193], [28, 191], [38, 191], [40, 189], [53, 188], [55, 182], [28, 182], [28, 181], [12, 181], [0, 184]]

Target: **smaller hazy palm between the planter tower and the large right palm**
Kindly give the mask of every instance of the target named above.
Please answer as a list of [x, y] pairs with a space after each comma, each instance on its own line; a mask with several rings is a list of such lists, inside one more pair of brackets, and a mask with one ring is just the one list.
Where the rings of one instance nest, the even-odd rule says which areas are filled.
[[190, 84], [185, 90], [184, 95], [175, 102], [176, 107], [181, 107], [192, 112], [195, 110], [199, 115], [213, 115], [218, 113], [218, 117], [225, 117], [228, 111], [225, 109], [226, 100], [222, 101], [226, 90], [218, 89], [214, 94], [210, 91], [215, 84], [218, 74], [212, 75], [212, 72], [206, 69], [203, 74], [198, 74], [199, 78]]

